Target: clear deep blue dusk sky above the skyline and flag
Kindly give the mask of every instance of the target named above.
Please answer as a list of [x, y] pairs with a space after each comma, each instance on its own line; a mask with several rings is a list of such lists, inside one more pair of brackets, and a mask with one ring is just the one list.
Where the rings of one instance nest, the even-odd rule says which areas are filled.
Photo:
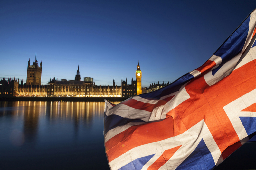
[[201, 66], [256, 1], [0, 1], [0, 79], [26, 82], [27, 62], [50, 77], [172, 82]]

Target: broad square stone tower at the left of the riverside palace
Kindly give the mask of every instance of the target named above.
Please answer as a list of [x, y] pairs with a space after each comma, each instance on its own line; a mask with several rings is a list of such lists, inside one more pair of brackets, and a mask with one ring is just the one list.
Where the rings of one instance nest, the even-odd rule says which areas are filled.
[[[35, 54], [36, 57], [36, 54]], [[30, 65], [30, 59], [28, 60], [28, 70], [27, 70], [27, 85], [41, 85], [41, 75], [42, 75], [42, 61], [40, 66], [36, 61]]]

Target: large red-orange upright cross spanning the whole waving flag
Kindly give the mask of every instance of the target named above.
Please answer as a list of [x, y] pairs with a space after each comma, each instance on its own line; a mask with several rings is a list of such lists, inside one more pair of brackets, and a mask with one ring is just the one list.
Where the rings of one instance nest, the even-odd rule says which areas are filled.
[[185, 87], [191, 97], [167, 113], [165, 120], [132, 126], [107, 141], [109, 162], [134, 147], [182, 134], [202, 119], [223, 153], [239, 141], [223, 107], [256, 89], [255, 62], [248, 62], [210, 87], [203, 76], [193, 79]]

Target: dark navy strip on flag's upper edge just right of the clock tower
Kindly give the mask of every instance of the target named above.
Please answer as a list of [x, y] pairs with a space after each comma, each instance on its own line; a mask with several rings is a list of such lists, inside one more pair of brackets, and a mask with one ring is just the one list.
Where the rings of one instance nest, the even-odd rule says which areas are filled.
[[192, 74], [187, 73], [170, 85], [166, 85], [165, 87], [150, 93], [140, 94], [139, 96], [149, 100], [159, 100], [162, 96], [179, 91], [182, 85], [193, 78], [194, 76]]

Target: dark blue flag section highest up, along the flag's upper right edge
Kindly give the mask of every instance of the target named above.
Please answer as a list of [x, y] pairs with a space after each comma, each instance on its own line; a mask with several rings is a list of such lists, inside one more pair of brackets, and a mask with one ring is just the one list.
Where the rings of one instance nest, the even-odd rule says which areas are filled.
[[222, 63], [229, 61], [242, 51], [249, 31], [250, 17], [251, 16], [249, 16], [214, 53], [214, 55], [222, 58]]

